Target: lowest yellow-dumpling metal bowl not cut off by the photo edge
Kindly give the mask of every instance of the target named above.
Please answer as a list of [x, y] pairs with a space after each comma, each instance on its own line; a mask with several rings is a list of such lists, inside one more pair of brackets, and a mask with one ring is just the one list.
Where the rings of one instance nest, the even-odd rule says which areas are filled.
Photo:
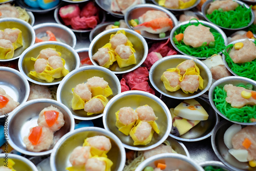
[[[134, 141], [130, 136], [126, 136], [118, 131], [115, 125], [115, 113], [124, 106], [130, 106], [136, 109], [145, 104], [151, 106], [156, 117], [158, 117], [156, 123], [158, 124], [160, 133], [154, 133], [152, 141], [147, 145], [134, 145]], [[143, 91], [127, 91], [116, 95], [106, 104], [103, 112], [103, 125], [106, 130], [114, 133], [122, 141], [125, 148], [145, 151], [157, 147], [168, 137], [172, 129], [172, 118], [170, 117], [167, 106], [158, 97]]]

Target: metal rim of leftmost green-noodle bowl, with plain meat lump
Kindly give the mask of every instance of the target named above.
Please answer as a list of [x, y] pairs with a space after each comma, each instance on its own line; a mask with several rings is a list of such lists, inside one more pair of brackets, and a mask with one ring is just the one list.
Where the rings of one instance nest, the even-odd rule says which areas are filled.
[[[203, 20], [198, 20], [198, 21], [197, 21], [197, 20], [190, 20], [190, 23], [191, 23], [191, 24], [198, 23], [198, 22], [204, 24], [204, 26], [206, 26], [206, 27], [209, 27], [209, 28], [211, 29], [211, 32], [214, 31], [214, 32], [220, 33], [221, 36], [222, 36], [222, 38], [224, 39], [224, 44], [227, 45], [227, 36], [226, 36], [226, 34], [225, 34], [219, 27], [217, 27], [216, 25], [211, 24], [211, 23], [209, 23], [209, 22], [205, 22], [205, 21], [203, 21]], [[173, 30], [170, 32], [170, 42], [172, 43], [172, 45], [174, 46], [174, 48], [175, 48], [177, 51], [179, 51], [181, 54], [183, 54], [183, 55], [187, 55], [187, 56], [194, 57], [194, 58], [197, 58], [197, 59], [206, 59], [206, 58], [210, 57], [210, 56], [206, 56], [206, 57], [196, 57], [196, 56], [188, 55], [188, 54], [184, 53], [183, 51], [181, 51], [181, 50], [175, 45], [174, 40], [173, 40], [173, 38], [174, 38], [174, 33], [175, 33], [177, 30], [179, 31], [181, 26], [186, 25], [186, 24], [188, 24], [188, 23], [189, 23], [189, 21], [182, 22], [182, 23], [180, 23], [179, 25], [177, 25], [175, 28], [173, 28]], [[218, 54], [221, 54], [221, 53], [222, 53], [222, 51], [220, 51]]]

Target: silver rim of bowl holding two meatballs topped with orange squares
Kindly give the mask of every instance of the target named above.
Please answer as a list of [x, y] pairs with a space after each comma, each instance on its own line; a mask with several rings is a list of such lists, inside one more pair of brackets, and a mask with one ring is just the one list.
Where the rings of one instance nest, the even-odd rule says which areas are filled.
[[[8, 117], [8, 123], [10, 123], [12, 121], [12, 119], [18, 114], [19, 110], [20, 109], [23, 109], [31, 104], [36, 104], [36, 103], [52, 103], [52, 104], [55, 104], [55, 105], [58, 105], [60, 108], [62, 108], [63, 110], [65, 110], [70, 118], [70, 130], [69, 132], [73, 132], [74, 129], [75, 129], [75, 120], [73, 118], [73, 115], [72, 113], [70, 112], [70, 110], [67, 108], [66, 105], [56, 101], [56, 100], [52, 100], [52, 99], [34, 99], [34, 100], [29, 100], [29, 101], [26, 101], [25, 103], [23, 103], [22, 105], [19, 105], [17, 106], [17, 108], [15, 108], [13, 110], [13, 114], [10, 115]], [[38, 114], [39, 115], [39, 114]], [[69, 133], [68, 132], [68, 133]], [[68, 134], [67, 133], [67, 134]], [[66, 134], [65, 134], [66, 135]], [[44, 152], [31, 152], [31, 151], [28, 151], [27, 149], [22, 149], [20, 148], [19, 146], [17, 146], [15, 144], [15, 142], [12, 141], [12, 138], [10, 136], [10, 124], [8, 124], [8, 143], [19, 153], [22, 153], [22, 154], [25, 154], [25, 155], [29, 155], [29, 156], [43, 156], [43, 155], [48, 155], [48, 154], [51, 154], [53, 149], [49, 149], [48, 151], [44, 151]], [[63, 137], [63, 136], [62, 136]], [[61, 138], [62, 138], [61, 137]], [[58, 140], [59, 141], [59, 140]], [[57, 142], [58, 142], [57, 141]], [[55, 144], [56, 145], [56, 144]], [[55, 146], [54, 145], [54, 146]]]

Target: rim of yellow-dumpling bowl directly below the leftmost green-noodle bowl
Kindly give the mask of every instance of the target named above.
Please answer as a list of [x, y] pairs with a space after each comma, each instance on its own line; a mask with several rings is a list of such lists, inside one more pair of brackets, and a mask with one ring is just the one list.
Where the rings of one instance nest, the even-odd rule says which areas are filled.
[[[204, 67], [205, 69], [205, 72], [207, 73], [207, 76], [208, 76], [208, 84], [207, 86], [198, 94], [195, 94], [193, 96], [189, 96], [189, 97], [175, 97], [175, 96], [172, 96], [172, 95], [169, 95], [167, 93], [164, 93], [162, 92], [155, 84], [154, 82], [154, 78], [153, 78], [153, 71], [158, 67], [158, 65], [160, 65], [160, 63], [162, 62], [165, 62], [167, 60], [171, 60], [171, 59], [185, 59], [185, 60], [188, 60], [188, 59], [193, 59], [193, 60], [196, 60], [198, 63], [200, 63], [201, 66]], [[149, 78], [150, 78], [150, 82], [152, 84], [152, 86], [161, 94], [163, 94], [164, 96], [167, 96], [167, 97], [170, 97], [170, 98], [174, 98], [174, 99], [192, 99], [192, 98], [195, 98], [195, 97], [198, 97], [198, 96], [201, 96], [202, 94], [204, 94], [210, 87], [211, 87], [211, 82], [212, 82], [212, 75], [211, 75], [211, 72], [210, 72], [210, 69], [199, 59], [196, 59], [196, 58], [193, 58], [193, 57], [190, 57], [190, 56], [187, 56], [187, 55], [170, 55], [170, 56], [165, 56], [164, 58], [162, 59], [159, 59], [157, 60], [154, 65], [151, 67], [151, 70], [150, 70], [150, 73], [149, 73]]]

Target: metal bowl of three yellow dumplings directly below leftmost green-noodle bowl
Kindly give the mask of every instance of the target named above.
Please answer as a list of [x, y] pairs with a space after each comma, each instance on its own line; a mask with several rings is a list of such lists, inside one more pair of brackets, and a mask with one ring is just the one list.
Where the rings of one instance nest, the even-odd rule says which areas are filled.
[[[184, 93], [181, 89], [176, 92], [169, 92], [165, 89], [163, 82], [161, 81], [162, 74], [170, 68], [176, 68], [181, 62], [193, 59], [200, 69], [200, 75], [204, 79], [204, 89], [199, 90], [197, 92], [191, 93]], [[154, 63], [150, 70], [150, 82], [152, 86], [161, 94], [175, 99], [192, 99], [204, 94], [211, 85], [212, 76], [209, 68], [200, 60], [195, 59], [193, 57], [185, 56], [185, 55], [172, 55], [166, 56], [162, 59], [159, 59]]]

